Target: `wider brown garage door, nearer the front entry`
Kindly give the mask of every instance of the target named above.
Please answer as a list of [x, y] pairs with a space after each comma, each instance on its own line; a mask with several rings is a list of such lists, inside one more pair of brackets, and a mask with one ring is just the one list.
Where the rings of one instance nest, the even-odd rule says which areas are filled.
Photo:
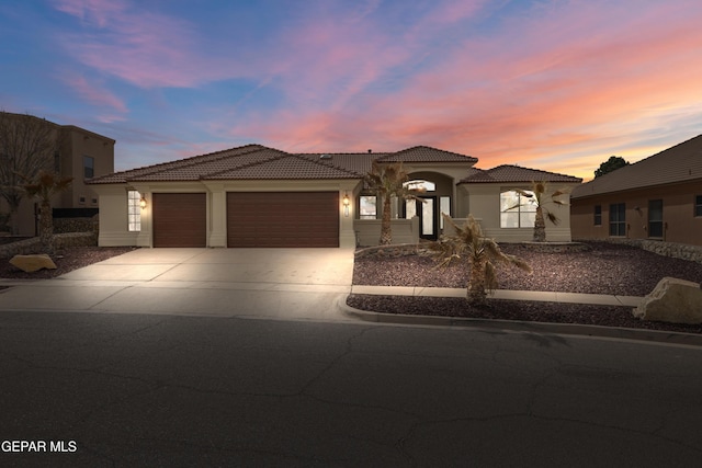
[[229, 192], [227, 246], [339, 247], [339, 193]]

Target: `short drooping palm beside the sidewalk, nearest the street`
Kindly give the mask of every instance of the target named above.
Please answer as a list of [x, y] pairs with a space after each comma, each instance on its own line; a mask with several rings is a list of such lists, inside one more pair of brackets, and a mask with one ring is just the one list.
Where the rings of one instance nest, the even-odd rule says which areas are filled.
[[437, 242], [429, 244], [439, 266], [449, 266], [454, 261], [467, 261], [469, 269], [466, 285], [467, 300], [475, 306], [487, 304], [487, 294], [497, 288], [497, 273], [494, 262], [505, 262], [531, 273], [531, 266], [523, 260], [503, 253], [497, 242], [483, 236], [478, 221], [468, 216], [463, 227], [456, 226], [450, 216], [441, 214], [444, 221], [453, 227], [455, 233], [443, 235]]

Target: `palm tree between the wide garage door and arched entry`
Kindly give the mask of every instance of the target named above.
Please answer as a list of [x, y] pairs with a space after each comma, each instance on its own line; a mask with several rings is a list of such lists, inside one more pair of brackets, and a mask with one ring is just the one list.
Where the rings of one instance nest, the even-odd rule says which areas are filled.
[[390, 227], [390, 198], [421, 199], [415, 194], [419, 191], [407, 189], [406, 182], [409, 174], [403, 168], [403, 163], [382, 164], [373, 161], [371, 172], [365, 175], [369, 189], [383, 198], [383, 220], [381, 224], [381, 246], [393, 243], [393, 229]]

